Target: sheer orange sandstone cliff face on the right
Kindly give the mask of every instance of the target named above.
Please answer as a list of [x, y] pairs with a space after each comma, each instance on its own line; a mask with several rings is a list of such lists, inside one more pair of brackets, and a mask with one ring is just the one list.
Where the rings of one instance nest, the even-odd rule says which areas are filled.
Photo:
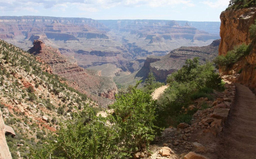
[[[256, 18], [256, 8], [227, 10], [221, 13], [219, 55], [226, 55], [229, 50], [240, 44], [249, 44], [249, 28]], [[252, 42], [250, 55], [234, 64], [232, 70], [222, 71], [221, 74], [236, 73], [242, 69], [240, 76], [234, 81], [256, 88], [256, 45]]]

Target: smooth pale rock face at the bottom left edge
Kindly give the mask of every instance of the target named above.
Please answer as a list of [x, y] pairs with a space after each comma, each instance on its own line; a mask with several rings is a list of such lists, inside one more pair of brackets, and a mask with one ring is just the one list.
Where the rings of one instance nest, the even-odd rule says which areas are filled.
[[0, 159], [12, 159], [12, 155], [9, 151], [9, 147], [5, 139], [5, 125], [0, 109]]

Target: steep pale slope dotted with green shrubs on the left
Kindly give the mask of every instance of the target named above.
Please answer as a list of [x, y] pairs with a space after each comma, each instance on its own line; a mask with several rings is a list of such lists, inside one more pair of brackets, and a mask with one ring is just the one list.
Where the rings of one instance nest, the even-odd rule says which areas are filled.
[[16, 133], [14, 138], [6, 136], [13, 159], [26, 158], [29, 145], [40, 147], [48, 132], [56, 131], [74, 112], [97, 105], [48, 73], [47, 64], [4, 41], [0, 41], [0, 64], [2, 116]]

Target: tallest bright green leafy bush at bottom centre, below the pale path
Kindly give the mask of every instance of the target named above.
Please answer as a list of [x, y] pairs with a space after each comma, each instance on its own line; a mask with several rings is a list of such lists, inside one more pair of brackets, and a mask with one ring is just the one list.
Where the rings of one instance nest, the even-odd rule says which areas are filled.
[[128, 154], [148, 146], [158, 130], [154, 125], [156, 104], [150, 94], [136, 89], [138, 84], [110, 106], [115, 112], [114, 123], [120, 128], [123, 151]]

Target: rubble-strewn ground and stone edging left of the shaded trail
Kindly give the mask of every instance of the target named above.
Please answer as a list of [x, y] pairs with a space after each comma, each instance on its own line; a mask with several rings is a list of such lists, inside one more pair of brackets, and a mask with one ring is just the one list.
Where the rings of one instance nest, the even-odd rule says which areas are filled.
[[[217, 149], [218, 136], [222, 133], [223, 127], [234, 97], [236, 87], [233, 84], [226, 84], [224, 92], [215, 92], [215, 101], [201, 98], [190, 105], [189, 109], [198, 107], [198, 103], [207, 101], [209, 108], [198, 110], [192, 119], [192, 124], [180, 123], [177, 128], [169, 127], [162, 132], [162, 136], [156, 137], [154, 145], [151, 145], [153, 153], [147, 153], [144, 158], [212, 158]], [[200, 108], [198, 108], [200, 109]], [[143, 155], [142, 155], [143, 156]], [[143, 158], [143, 157], [135, 158]]]

